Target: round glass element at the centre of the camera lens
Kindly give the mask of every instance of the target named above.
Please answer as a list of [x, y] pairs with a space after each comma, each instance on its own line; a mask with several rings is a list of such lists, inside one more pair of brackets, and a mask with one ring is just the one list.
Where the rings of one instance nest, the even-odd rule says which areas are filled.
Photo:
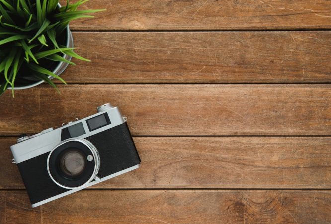
[[68, 176], [80, 175], [86, 166], [86, 159], [83, 153], [77, 150], [68, 150], [60, 158], [60, 169]]

